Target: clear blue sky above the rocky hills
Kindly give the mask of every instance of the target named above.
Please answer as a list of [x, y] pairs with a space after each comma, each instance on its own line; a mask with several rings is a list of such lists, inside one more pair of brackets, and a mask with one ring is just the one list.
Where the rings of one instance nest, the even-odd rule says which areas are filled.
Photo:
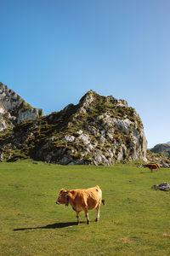
[[44, 113], [88, 91], [136, 108], [170, 141], [169, 0], [0, 0], [0, 81]]

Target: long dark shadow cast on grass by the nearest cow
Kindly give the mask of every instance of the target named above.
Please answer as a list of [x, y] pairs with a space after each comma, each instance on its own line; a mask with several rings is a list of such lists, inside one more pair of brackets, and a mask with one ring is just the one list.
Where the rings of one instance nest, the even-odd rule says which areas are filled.
[[[84, 223], [84, 222], [80, 222]], [[43, 229], [62, 229], [66, 227], [71, 227], [77, 225], [77, 222], [64, 222], [64, 223], [54, 223], [54, 224], [48, 224], [46, 226], [42, 227], [33, 227], [33, 228], [20, 228], [20, 229], [14, 229], [13, 231], [23, 231], [23, 230], [43, 230]]]

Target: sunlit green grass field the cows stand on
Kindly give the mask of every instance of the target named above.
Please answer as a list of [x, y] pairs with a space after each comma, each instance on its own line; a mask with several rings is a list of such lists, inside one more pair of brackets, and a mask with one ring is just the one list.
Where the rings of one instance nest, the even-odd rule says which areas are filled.
[[[0, 164], [0, 255], [170, 255], [170, 193], [151, 186], [170, 170], [135, 165]], [[59, 190], [103, 191], [105, 206], [81, 212], [56, 205]]]

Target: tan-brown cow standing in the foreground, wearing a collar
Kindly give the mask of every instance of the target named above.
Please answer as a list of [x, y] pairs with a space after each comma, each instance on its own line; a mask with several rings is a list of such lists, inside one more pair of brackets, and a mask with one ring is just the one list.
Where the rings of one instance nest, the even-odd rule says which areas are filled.
[[79, 213], [83, 210], [87, 218], [87, 224], [89, 224], [88, 210], [96, 208], [96, 221], [99, 221], [99, 207], [101, 202], [105, 205], [105, 201], [102, 200], [101, 189], [99, 189], [99, 186], [95, 186], [90, 189], [61, 189], [56, 204], [65, 204], [67, 207], [70, 204], [73, 210], [77, 212], [77, 224], [80, 224]]

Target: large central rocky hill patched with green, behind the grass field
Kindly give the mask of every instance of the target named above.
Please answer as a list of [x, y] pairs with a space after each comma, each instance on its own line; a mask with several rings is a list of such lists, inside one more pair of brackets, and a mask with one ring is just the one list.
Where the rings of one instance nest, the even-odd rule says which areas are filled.
[[63, 165], [105, 165], [146, 160], [139, 114], [124, 100], [93, 90], [77, 105], [14, 125], [0, 138], [0, 159], [32, 158]]

